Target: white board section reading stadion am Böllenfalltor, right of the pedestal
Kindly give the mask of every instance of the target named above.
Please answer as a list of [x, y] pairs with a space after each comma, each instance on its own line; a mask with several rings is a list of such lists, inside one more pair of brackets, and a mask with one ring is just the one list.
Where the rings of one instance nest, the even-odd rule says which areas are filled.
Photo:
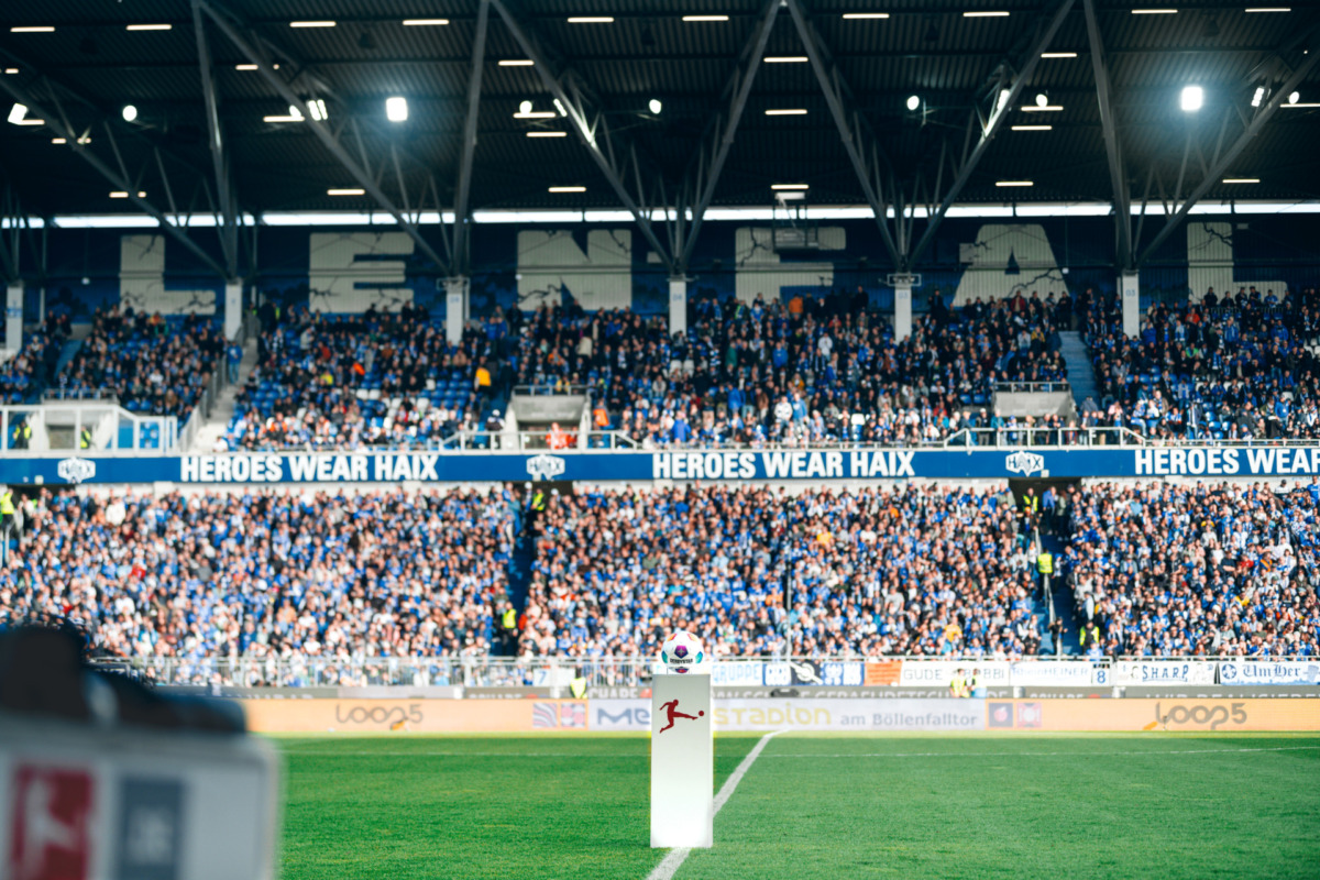
[[977, 731], [981, 699], [726, 699], [715, 728], [730, 731]]

